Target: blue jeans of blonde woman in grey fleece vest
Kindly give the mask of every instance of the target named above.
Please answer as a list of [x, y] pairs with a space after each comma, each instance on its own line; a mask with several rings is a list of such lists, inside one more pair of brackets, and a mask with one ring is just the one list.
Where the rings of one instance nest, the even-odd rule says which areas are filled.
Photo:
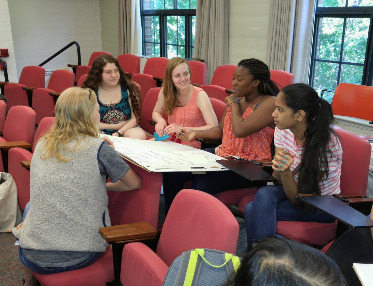
[[[23, 210], [22, 222], [25, 220], [29, 208], [30, 208], [30, 202], [28, 202], [26, 204], [25, 209]], [[90, 257], [88, 257], [86, 260], [82, 261], [81, 263], [74, 264], [74, 265], [71, 265], [71, 266], [66, 266], [66, 267], [41, 267], [41, 266], [38, 266], [35, 263], [32, 263], [32, 262], [28, 261], [26, 259], [25, 255], [23, 254], [22, 247], [20, 247], [20, 246], [18, 247], [18, 256], [19, 256], [19, 260], [21, 260], [22, 264], [24, 266], [26, 266], [27, 268], [29, 268], [31, 271], [34, 271], [34, 272], [40, 273], [40, 274], [58, 273], [58, 272], [64, 272], [64, 271], [75, 270], [75, 269], [80, 269], [80, 268], [83, 268], [83, 267], [87, 267], [88, 265], [94, 263], [94, 261], [96, 260], [96, 258], [98, 257], [99, 254], [100, 254], [100, 252], [93, 252], [93, 254]]]

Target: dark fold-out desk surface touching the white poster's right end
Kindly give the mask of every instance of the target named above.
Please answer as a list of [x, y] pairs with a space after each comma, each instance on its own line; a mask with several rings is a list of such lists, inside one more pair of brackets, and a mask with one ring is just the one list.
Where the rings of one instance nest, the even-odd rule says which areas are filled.
[[219, 164], [250, 180], [251, 182], [277, 182], [270, 174], [248, 161], [216, 160]]

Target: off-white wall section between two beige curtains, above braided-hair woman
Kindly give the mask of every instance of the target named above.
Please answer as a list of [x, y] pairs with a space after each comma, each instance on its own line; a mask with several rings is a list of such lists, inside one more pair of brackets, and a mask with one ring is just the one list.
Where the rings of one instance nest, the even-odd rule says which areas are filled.
[[229, 0], [228, 62], [266, 61], [270, 0]]

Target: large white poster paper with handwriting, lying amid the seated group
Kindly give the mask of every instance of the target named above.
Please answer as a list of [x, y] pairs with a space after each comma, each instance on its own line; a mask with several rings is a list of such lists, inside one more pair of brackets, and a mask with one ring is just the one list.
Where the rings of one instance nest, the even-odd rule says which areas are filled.
[[149, 141], [116, 136], [107, 137], [113, 141], [117, 153], [152, 172], [228, 170], [215, 162], [223, 158], [169, 140]]

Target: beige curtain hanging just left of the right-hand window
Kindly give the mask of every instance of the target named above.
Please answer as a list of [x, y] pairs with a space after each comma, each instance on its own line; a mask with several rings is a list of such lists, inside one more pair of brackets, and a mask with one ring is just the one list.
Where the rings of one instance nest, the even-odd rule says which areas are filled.
[[315, 0], [272, 0], [266, 63], [270, 69], [294, 74], [308, 83]]

